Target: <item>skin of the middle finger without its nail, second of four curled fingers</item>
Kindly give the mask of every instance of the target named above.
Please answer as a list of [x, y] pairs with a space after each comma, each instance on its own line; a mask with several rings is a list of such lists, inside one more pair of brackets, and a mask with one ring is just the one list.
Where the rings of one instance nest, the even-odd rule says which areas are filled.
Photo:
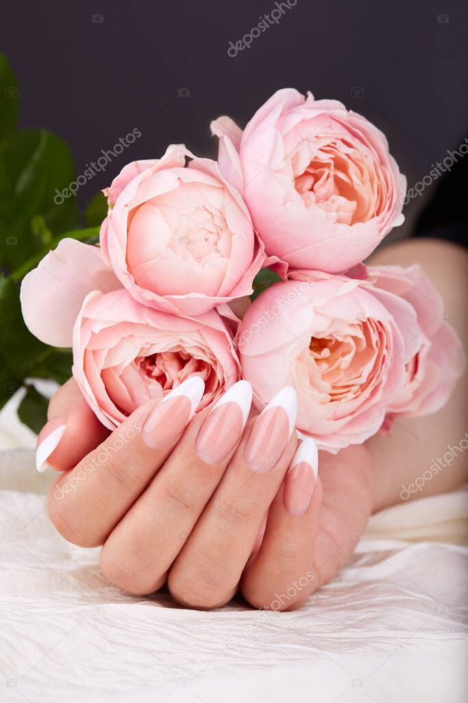
[[194, 529], [229, 459], [205, 463], [194, 450], [208, 410], [192, 420], [154, 480], [109, 535], [100, 555], [107, 581], [134, 595], [154, 593]]

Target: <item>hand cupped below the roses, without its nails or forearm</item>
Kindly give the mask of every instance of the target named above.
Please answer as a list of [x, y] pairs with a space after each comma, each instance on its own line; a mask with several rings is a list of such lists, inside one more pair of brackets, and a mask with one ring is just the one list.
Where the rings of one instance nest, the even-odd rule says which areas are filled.
[[[69, 541], [103, 545], [100, 565], [111, 583], [142, 595], [167, 582], [175, 600], [190, 607], [218, 607], [240, 588], [255, 607], [286, 610], [347, 562], [372, 506], [365, 448], [321, 453], [311, 499], [307, 486], [294, 486], [293, 472], [286, 475], [295, 437], [271, 470], [255, 472], [243, 456], [251, 421], [239, 445], [208, 464], [194, 451], [207, 411], [182, 437], [151, 449], [140, 429], [153, 407], [150, 401], [138, 408], [109, 434], [70, 380], [52, 399], [39, 436], [41, 448], [65, 424], [48, 458], [67, 468], [48, 496], [49, 514]], [[302, 494], [303, 515], [290, 515], [291, 491]]]

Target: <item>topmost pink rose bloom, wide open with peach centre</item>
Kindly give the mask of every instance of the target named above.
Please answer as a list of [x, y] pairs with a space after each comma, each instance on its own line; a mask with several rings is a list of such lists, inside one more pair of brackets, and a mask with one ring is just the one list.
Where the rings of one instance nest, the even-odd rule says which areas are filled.
[[267, 254], [291, 267], [345, 271], [403, 222], [406, 179], [387, 139], [342, 103], [284, 89], [243, 132], [229, 117], [212, 131]]

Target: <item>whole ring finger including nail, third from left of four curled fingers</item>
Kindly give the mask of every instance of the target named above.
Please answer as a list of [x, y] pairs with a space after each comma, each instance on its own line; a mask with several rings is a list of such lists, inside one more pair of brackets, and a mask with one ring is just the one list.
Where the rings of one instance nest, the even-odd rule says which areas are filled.
[[[281, 395], [281, 403], [273, 399], [263, 411], [269, 424], [261, 413], [244, 434], [218, 490], [171, 567], [168, 587], [183, 605], [219, 607], [236, 592], [262, 520], [295, 451], [296, 400], [290, 392]], [[261, 440], [255, 448], [255, 470], [246, 460], [253, 438]], [[272, 465], [278, 446], [283, 451]]]

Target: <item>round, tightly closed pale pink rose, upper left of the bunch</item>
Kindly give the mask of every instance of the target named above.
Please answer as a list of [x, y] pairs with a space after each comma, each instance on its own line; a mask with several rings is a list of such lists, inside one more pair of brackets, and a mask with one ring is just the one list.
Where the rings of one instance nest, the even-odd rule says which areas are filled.
[[170, 146], [127, 165], [104, 192], [102, 255], [142, 304], [199, 315], [252, 292], [265, 261], [241, 195], [210, 159]]

